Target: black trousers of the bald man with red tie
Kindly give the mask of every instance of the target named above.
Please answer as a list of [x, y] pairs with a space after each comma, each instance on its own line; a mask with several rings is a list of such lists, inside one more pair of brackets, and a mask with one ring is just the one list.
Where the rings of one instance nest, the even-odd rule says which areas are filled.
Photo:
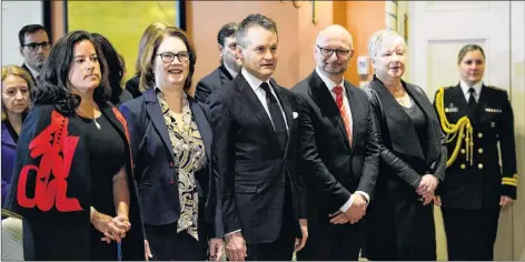
[[[329, 223], [329, 220], [327, 222]], [[359, 259], [365, 236], [363, 221], [356, 224], [325, 224], [325, 226], [309, 224], [309, 228], [306, 245], [297, 253], [298, 261], [357, 261]]]

